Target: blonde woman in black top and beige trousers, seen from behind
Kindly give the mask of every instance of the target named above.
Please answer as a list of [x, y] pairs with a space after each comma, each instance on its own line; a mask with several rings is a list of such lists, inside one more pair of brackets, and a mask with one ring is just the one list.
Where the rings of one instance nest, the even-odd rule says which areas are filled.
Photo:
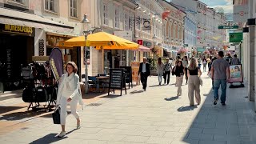
[[195, 91], [195, 101], [198, 105], [201, 102], [200, 96], [200, 79], [202, 72], [198, 68], [198, 63], [196, 58], [191, 58], [190, 65], [188, 66], [187, 75], [188, 75], [188, 86], [189, 86], [189, 100], [190, 106], [194, 106], [194, 91]]

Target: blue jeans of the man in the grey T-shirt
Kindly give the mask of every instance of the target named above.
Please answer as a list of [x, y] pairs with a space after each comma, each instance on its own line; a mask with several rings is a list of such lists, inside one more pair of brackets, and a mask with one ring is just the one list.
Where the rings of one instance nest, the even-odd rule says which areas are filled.
[[222, 86], [221, 102], [226, 101], [226, 79], [214, 79], [214, 98], [218, 99], [218, 89]]

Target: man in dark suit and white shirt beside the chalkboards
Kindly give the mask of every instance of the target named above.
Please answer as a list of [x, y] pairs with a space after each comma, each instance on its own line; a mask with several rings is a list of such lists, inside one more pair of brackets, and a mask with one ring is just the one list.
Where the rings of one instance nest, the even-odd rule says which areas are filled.
[[146, 91], [147, 77], [150, 76], [150, 64], [146, 62], [146, 57], [143, 58], [143, 62], [139, 65], [138, 74], [141, 74], [143, 90]]

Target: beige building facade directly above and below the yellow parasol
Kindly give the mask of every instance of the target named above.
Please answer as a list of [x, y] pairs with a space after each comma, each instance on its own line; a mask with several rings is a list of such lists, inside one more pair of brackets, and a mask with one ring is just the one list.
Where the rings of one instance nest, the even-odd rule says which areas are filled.
[[[120, 32], [129, 33], [134, 38], [134, 27], [129, 26], [130, 18], [136, 13], [134, 0], [95, 0], [94, 17], [90, 19], [91, 27], [100, 27], [104, 32], [122, 37]], [[124, 34], [124, 33], [122, 33]], [[127, 38], [127, 37], [126, 37]], [[109, 73], [110, 68], [130, 66], [133, 59], [133, 51], [130, 50], [95, 50], [92, 52], [92, 75]], [[90, 71], [90, 70], [89, 70]]]

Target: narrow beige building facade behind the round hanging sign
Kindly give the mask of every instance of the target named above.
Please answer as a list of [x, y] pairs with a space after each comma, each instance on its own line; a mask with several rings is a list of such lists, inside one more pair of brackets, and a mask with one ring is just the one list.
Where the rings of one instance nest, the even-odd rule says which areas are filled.
[[[154, 53], [136, 52], [136, 61], [142, 61], [142, 57], [163, 56], [162, 49], [162, 18], [163, 7], [156, 0], [138, 0], [138, 8], [135, 14], [135, 42], [142, 42], [142, 46], [154, 49]], [[130, 19], [133, 21], [133, 19]], [[148, 24], [146, 24], [148, 23]], [[147, 28], [148, 25], [149, 27]], [[154, 51], [153, 50], [153, 51]]]

